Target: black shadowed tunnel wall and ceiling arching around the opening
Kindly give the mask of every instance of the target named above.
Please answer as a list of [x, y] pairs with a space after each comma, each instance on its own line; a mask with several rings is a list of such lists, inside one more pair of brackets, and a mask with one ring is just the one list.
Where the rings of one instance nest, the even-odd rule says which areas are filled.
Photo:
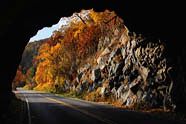
[[184, 49], [181, 29], [184, 10], [181, 3], [131, 1], [7, 1], [0, 8], [1, 90], [0, 111], [8, 108], [11, 82], [15, 76], [22, 52], [37, 31], [56, 24], [63, 16], [71, 16], [81, 9], [113, 10], [124, 19], [131, 32], [164, 40], [168, 55], [176, 57]]

